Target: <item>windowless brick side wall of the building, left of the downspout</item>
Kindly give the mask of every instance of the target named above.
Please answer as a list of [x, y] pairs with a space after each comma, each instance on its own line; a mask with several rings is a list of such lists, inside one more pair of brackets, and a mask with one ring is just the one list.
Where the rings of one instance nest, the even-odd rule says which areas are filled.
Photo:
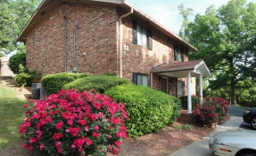
[[[27, 36], [27, 63], [41, 74], [64, 71], [65, 26], [67, 18], [67, 71], [80, 73], [117, 72], [117, 21], [115, 7], [95, 4], [63, 4], [43, 19]], [[73, 57], [74, 14], [78, 24], [77, 50]], [[86, 52], [87, 55], [82, 54]], [[78, 57], [77, 57], [78, 55]], [[73, 59], [74, 58], [74, 59]]]

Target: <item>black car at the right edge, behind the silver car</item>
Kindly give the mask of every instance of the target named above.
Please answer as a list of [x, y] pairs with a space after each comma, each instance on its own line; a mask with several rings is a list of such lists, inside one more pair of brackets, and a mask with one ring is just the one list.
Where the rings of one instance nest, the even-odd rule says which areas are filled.
[[246, 123], [250, 123], [252, 129], [256, 129], [256, 107], [255, 108], [247, 108], [243, 114], [243, 120]]

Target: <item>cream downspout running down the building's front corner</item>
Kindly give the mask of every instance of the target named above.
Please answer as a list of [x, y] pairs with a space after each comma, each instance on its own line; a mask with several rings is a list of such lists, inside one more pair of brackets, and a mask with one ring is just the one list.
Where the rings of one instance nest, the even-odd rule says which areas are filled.
[[131, 8], [130, 12], [128, 12], [127, 14], [124, 14], [120, 17], [120, 78], [123, 77], [123, 73], [122, 73], [122, 19], [125, 17], [128, 17], [128, 15], [133, 13], [133, 9]]

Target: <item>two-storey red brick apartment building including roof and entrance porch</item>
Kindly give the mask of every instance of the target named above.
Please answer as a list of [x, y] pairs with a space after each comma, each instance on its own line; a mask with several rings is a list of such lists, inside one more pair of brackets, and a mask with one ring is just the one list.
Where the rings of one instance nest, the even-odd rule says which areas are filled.
[[18, 41], [43, 75], [108, 72], [175, 97], [210, 75], [202, 60], [188, 61], [194, 46], [126, 0], [44, 0]]

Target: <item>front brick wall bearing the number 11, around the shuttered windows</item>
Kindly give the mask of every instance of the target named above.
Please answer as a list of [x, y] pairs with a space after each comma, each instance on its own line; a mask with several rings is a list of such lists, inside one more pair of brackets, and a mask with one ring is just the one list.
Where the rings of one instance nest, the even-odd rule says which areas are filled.
[[[177, 42], [170, 40], [168, 36], [163, 35], [160, 31], [145, 25], [143, 26], [150, 28], [153, 32], [153, 51], [133, 43], [131, 19], [132, 18], [128, 17], [123, 20], [123, 45], [127, 45], [129, 49], [129, 51], [123, 50], [123, 77], [126, 77], [132, 81], [133, 73], [140, 73], [148, 74], [148, 80], [150, 80], [150, 71], [154, 66], [161, 65], [164, 62], [177, 62], [174, 60], [174, 44], [177, 44], [180, 48], [184, 47], [182, 47], [182, 45], [178, 44]], [[140, 24], [139, 21], [137, 22]], [[185, 49], [185, 61], [188, 61], [187, 55], [187, 49]], [[153, 74], [153, 89], [155, 90], [161, 90], [161, 82], [159, 82], [160, 77], [161, 75]], [[172, 79], [172, 89], [170, 90], [170, 94], [176, 96], [177, 79], [169, 79]], [[184, 81], [185, 84], [187, 83], [186, 78], [178, 80]], [[186, 92], [187, 91], [185, 89], [185, 93]]]

